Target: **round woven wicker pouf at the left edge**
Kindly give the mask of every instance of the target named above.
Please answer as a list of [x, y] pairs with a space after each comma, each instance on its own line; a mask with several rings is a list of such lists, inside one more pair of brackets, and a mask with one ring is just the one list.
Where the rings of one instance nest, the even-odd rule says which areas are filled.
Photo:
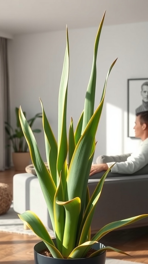
[[7, 213], [12, 202], [12, 194], [9, 185], [0, 182], [0, 215]]

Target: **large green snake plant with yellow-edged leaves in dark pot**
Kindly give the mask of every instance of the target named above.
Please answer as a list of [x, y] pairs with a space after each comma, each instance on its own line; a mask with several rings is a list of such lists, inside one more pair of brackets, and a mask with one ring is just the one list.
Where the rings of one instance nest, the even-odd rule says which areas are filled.
[[[100, 104], [94, 111], [96, 58], [104, 17], [105, 13], [96, 36], [93, 64], [86, 91], [84, 110], [80, 116], [75, 132], [73, 129], [73, 120], [71, 118], [67, 136], [66, 108], [69, 76], [69, 43], [67, 29], [67, 45], [58, 99], [58, 141], [56, 141], [53, 135], [42, 101], [40, 100], [49, 171], [41, 158], [36, 140], [23, 115], [21, 107], [19, 109], [22, 130], [28, 143], [32, 163], [36, 170], [50, 214], [53, 231], [56, 237], [56, 246], [45, 226], [35, 213], [26, 211], [23, 214], [19, 214], [19, 218], [23, 220], [42, 241], [44, 241], [54, 258], [83, 258], [92, 245], [98, 243], [97, 241], [111, 230], [134, 223], [148, 216], [146, 214], [139, 215], [107, 224], [92, 238], [90, 237], [91, 222], [96, 204], [100, 197], [107, 173], [110, 170], [108, 169], [102, 176], [90, 198], [87, 183], [95, 152], [95, 135], [105, 98], [107, 79], [116, 62], [115, 60], [112, 63], [108, 71]], [[107, 249], [126, 254], [118, 249], [107, 246], [92, 253], [90, 257], [96, 256]]]

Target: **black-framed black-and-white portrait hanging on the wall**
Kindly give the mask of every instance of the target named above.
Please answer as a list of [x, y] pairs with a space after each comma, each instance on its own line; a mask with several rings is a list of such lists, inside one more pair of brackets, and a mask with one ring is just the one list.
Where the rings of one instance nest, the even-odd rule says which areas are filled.
[[128, 137], [135, 138], [135, 115], [148, 111], [148, 78], [127, 80]]

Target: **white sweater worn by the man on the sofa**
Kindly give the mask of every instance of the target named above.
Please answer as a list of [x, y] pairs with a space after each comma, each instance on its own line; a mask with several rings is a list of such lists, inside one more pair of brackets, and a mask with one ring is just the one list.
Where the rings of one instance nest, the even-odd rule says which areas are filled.
[[[107, 162], [108, 168], [115, 162]], [[131, 154], [124, 162], [116, 162], [111, 172], [131, 174], [148, 164], [148, 138], [141, 142], [137, 151]]]

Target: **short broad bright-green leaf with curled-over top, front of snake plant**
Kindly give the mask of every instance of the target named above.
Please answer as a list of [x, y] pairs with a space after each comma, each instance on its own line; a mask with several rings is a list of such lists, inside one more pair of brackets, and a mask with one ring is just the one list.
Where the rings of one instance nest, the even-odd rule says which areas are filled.
[[56, 202], [58, 205], [63, 205], [66, 212], [62, 256], [67, 258], [75, 248], [77, 224], [81, 210], [81, 200], [79, 197], [76, 197], [71, 201]]

